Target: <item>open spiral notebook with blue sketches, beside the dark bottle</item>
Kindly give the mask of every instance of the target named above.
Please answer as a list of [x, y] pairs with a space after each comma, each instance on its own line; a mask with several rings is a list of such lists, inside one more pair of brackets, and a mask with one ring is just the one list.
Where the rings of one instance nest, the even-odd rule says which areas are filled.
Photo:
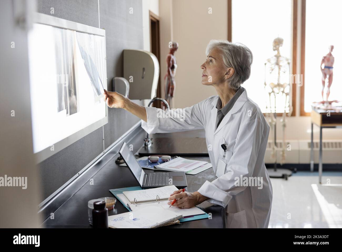
[[156, 206], [141, 210], [108, 216], [110, 228], [157, 228], [179, 223], [183, 215], [162, 210]]

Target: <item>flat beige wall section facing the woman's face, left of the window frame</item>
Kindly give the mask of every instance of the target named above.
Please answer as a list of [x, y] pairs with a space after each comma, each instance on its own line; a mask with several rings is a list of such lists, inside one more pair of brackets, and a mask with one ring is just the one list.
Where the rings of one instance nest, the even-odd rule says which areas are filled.
[[[173, 40], [179, 43], [175, 107], [184, 108], [216, 95], [212, 86], [203, 86], [200, 65], [206, 61], [210, 39], [227, 39], [227, 0], [173, 0]], [[212, 14], [208, 13], [212, 8]]]

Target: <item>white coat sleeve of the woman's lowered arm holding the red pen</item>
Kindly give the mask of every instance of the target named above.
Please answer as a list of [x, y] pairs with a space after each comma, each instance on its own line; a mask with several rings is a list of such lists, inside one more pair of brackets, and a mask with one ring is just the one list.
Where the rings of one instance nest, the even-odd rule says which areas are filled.
[[253, 174], [263, 139], [263, 127], [258, 118], [240, 126], [233, 155], [227, 163], [227, 172], [212, 182], [207, 180], [198, 190], [200, 194], [210, 198], [209, 202], [225, 207], [233, 195], [247, 188], [240, 186], [240, 176], [249, 178]]

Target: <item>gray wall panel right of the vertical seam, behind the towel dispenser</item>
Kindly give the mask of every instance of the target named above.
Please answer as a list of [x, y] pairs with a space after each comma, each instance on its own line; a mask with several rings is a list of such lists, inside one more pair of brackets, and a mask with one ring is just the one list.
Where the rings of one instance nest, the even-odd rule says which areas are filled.
[[[130, 8], [133, 14], [130, 14]], [[100, 27], [106, 30], [107, 87], [123, 76], [123, 49], [143, 49], [142, 1], [100, 1]], [[139, 103], [139, 101], [137, 101]], [[105, 149], [140, 119], [122, 109], [108, 109]]]

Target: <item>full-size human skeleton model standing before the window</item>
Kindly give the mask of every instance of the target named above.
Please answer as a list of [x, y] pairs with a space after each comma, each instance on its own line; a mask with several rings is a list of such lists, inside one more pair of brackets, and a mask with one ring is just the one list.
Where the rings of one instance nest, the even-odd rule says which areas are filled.
[[[287, 144], [285, 144], [285, 127], [286, 116], [290, 116], [292, 113], [291, 100], [291, 85], [290, 85], [290, 60], [280, 55], [279, 48], [283, 43], [282, 38], [276, 38], [273, 40], [273, 51], [277, 53], [267, 59], [265, 63], [265, 91], [268, 94], [266, 99], [266, 118], [273, 132], [274, 141], [272, 144], [272, 157], [274, 163], [277, 162], [276, 155], [276, 116], [277, 112], [282, 113], [281, 126], [282, 126], [282, 150], [280, 164], [285, 162], [285, 150]], [[276, 166], [275, 166], [276, 167]]]

